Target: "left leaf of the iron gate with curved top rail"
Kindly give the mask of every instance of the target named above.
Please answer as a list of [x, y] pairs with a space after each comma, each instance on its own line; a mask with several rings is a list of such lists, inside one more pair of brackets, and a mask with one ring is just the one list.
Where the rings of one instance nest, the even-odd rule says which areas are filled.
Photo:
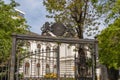
[[51, 49], [47, 46], [44, 49], [38, 44], [36, 50], [27, 50], [23, 55], [18, 53], [16, 80], [43, 80], [50, 77], [55, 80], [57, 47]]

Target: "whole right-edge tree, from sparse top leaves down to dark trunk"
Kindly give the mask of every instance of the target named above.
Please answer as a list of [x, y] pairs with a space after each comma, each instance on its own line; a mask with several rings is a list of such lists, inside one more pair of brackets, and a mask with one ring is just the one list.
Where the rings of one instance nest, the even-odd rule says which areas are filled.
[[[99, 6], [99, 11], [106, 17], [105, 22], [110, 24], [108, 28], [103, 30], [98, 36], [100, 41], [99, 47], [102, 48], [99, 52], [100, 62], [107, 67], [108, 76], [110, 80], [117, 80], [118, 67], [120, 67], [118, 56], [119, 43], [119, 21], [120, 21], [120, 0], [105, 0]], [[104, 9], [104, 10], [102, 10]], [[106, 14], [106, 15], [105, 15]], [[106, 36], [106, 37], [105, 37]], [[117, 39], [115, 39], [115, 37]], [[101, 42], [103, 41], [103, 42]], [[116, 47], [114, 47], [116, 44]], [[104, 47], [104, 51], [103, 50]], [[108, 55], [107, 55], [108, 54]], [[109, 60], [109, 61], [108, 61]], [[112, 74], [111, 74], [112, 72]]]

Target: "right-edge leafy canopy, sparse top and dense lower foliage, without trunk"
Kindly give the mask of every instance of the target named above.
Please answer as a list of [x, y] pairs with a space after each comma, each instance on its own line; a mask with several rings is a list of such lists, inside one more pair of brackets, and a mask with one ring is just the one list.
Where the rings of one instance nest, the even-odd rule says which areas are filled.
[[[102, 3], [103, 4], [103, 3]], [[106, 0], [103, 4], [108, 13], [107, 23], [112, 23], [98, 36], [100, 62], [107, 67], [120, 67], [120, 0]]]

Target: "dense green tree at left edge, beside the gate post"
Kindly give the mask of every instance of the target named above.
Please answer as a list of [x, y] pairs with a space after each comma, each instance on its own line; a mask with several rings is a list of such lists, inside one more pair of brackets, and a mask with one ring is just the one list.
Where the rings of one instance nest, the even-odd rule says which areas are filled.
[[28, 25], [19, 12], [15, 10], [18, 4], [11, 0], [10, 4], [5, 4], [0, 0], [0, 65], [10, 59], [12, 33], [25, 33]]

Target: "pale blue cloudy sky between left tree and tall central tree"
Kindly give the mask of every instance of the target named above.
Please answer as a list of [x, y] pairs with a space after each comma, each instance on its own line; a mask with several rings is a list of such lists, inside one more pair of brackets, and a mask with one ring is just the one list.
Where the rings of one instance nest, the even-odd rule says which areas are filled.
[[[10, 0], [4, 0], [9, 3]], [[30, 30], [32, 32], [41, 34], [41, 27], [45, 22], [51, 22], [53, 19], [46, 18], [48, 12], [43, 6], [43, 0], [15, 0], [20, 4], [17, 9], [25, 13], [25, 18], [27, 24], [31, 26]]]

